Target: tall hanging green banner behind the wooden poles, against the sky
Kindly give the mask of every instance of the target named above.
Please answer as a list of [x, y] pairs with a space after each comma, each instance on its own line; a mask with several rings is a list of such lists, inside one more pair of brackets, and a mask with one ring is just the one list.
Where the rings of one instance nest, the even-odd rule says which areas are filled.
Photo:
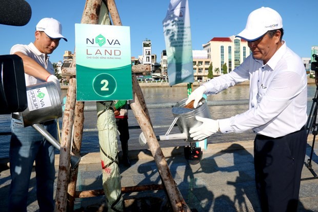
[[163, 21], [169, 84], [193, 83], [192, 41], [188, 0], [171, 0]]

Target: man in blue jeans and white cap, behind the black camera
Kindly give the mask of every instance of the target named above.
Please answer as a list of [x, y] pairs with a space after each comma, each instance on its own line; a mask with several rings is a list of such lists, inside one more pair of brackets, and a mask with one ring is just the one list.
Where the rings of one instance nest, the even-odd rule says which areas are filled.
[[[36, 25], [35, 41], [29, 45], [17, 44], [10, 53], [23, 60], [26, 85], [53, 82], [61, 95], [61, 86], [49, 61], [62, 35], [62, 25], [54, 18], [43, 18]], [[56, 122], [41, 123], [57, 139]], [[10, 140], [9, 211], [27, 211], [29, 182], [35, 161], [36, 195], [39, 211], [54, 211], [53, 184], [55, 178], [54, 147], [33, 127], [23, 127], [18, 114], [12, 113]]]

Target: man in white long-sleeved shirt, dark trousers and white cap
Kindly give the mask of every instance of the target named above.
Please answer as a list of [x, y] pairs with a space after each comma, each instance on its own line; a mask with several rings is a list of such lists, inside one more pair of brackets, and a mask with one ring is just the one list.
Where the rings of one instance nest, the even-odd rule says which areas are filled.
[[263, 211], [296, 211], [307, 135], [307, 76], [301, 58], [283, 37], [282, 17], [262, 7], [250, 13], [245, 29], [236, 35], [252, 52], [232, 72], [195, 89], [187, 103], [194, 107], [205, 94], [216, 94], [250, 81], [249, 109], [234, 117], [203, 122], [190, 129], [190, 137], [203, 140], [215, 132], [252, 129], [257, 194]]

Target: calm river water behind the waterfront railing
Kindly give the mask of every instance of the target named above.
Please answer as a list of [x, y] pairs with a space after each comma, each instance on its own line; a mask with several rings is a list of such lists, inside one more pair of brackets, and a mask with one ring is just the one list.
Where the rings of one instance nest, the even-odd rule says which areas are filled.
[[[147, 103], [173, 103], [181, 101], [187, 98], [187, 88], [186, 87], [165, 87], [165, 88], [143, 88], [143, 94]], [[308, 98], [312, 99], [314, 97], [316, 90], [315, 85], [308, 85]], [[65, 94], [65, 93], [64, 93]], [[209, 95], [208, 101], [216, 100], [245, 100], [248, 99], [249, 86], [234, 86], [227, 90], [224, 90], [217, 95]], [[85, 105], [94, 105], [94, 102], [86, 102]], [[312, 101], [308, 101], [307, 113], [309, 114], [310, 108], [312, 106]], [[213, 119], [229, 118], [235, 114], [242, 113], [248, 109], [248, 105], [232, 105], [232, 106], [213, 106], [209, 107], [211, 116]], [[170, 125], [174, 118], [171, 112], [171, 108], [166, 109], [149, 109], [150, 119], [154, 126], [156, 125]], [[89, 111], [84, 113], [85, 121], [84, 128], [96, 128], [96, 112]], [[128, 123], [130, 126], [138, 126], [133, 112], [129, 110]], [[59, 127], [62, 128], [62, 119], [59, 120]], [[163, 128], [154, 128], [156, 136], [164, 135], [169, 126]], [[10, 131], [10, 115], [0, 115], [0, 131], [8, 132]], [[148, 145], [141, 146], [138, 142], [138, 137], [141, 133], [141, 129], [131, 129], [130, 130], [130, 140], [129, 149], [146, 149]], [[177, 127], [174, 127], [170, 134], [180, 133]], [[233, 142], [233, 141], [246, 141], [254, 140], [255, 134], [250, 130], [243, 133], [216, 133], [210, 138], [208, 138], [208, 143], [222, 143], [222, 142]], [[0, 158], [9, 157], [9, 141], [10, 136], [0, 136]], [[160, 141], [161, 147], [170, 146], [186, 146], [189, 143], [184, 140], [175, 141]], [[98, 144], [98, 133], [94, 132], [84, 132], [82, 141], [82, 153], [97, 152], [99, 151]], [[118, 142], [118, 148], [120, 147], [120, 142]], [[58, 153], [58, 151], [56, 151]]]

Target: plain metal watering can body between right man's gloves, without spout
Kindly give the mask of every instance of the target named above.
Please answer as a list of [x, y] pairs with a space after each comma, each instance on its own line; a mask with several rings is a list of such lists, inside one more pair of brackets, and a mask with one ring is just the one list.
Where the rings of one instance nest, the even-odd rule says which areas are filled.
[[176, 124], [182, 133], [187, 136], [187, 142], [194, 141], [189, 134], [189, 130], [192, 127], [200, 126], [202, 122], [195, 119], [196, 116], [211, 119], [211, 114], [207, 105], [206, 99], [202, 98], [198, 106], [194, 109], [185, 108], [186, 101], [188, 99], [181, 100], [172, 108], [172, 114], [175, 118]]

